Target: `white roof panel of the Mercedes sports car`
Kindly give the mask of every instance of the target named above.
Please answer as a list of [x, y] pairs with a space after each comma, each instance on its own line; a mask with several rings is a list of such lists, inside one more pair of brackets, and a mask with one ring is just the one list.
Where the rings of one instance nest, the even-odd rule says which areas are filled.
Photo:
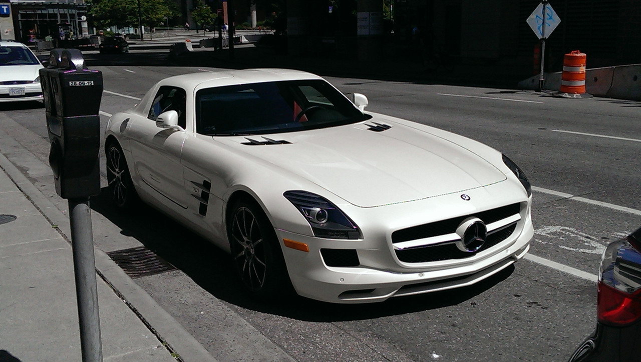
[[318, 75], [294, 69], [260, 68], [225, 70], [221, 72], [199, 72], [176, 75], [160, 81], [160, 85], [182, 86], [186, 89], [231, 86], [237, 84], [263, 83], [273, 81], [296, 81], [300, 79], [322, 79]]

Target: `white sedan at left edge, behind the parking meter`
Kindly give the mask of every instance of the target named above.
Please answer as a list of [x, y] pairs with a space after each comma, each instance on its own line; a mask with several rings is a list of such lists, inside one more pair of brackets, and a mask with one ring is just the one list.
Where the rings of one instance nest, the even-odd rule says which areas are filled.
[[26, 45], [0, 40], [0, 102], [42, 100], [42, 64]]

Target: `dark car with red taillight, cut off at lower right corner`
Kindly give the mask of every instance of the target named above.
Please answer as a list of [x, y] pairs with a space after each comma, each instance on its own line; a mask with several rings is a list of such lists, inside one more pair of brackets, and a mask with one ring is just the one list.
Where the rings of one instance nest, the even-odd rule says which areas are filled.
[[570, 362], [641, 361], [641, 228], [601, 259], [597, 328]]

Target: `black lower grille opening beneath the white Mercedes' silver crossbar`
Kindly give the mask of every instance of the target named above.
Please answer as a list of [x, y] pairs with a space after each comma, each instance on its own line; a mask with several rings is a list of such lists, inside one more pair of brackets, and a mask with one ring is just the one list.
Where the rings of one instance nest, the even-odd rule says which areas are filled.
[[469, 258], [472, 255], [476, 255], [476, 253], [481, 253], [482, 251], [496, 246], [503, 240], [508, 239], [516, 227], [516, 224], [513, 224], [499, 232], [488, 235], [485, 240], [485, 244], [483, 244], [481, 249], [478, 249], [475, 253], [460, 251], [456, 248], [455, 244], [442, 244], [436, 246], [425, 246], [422, 248], [396, 250], [396, 256], [401, 260], [401, 262], [405, 263], [440, 262], [442, 260]]

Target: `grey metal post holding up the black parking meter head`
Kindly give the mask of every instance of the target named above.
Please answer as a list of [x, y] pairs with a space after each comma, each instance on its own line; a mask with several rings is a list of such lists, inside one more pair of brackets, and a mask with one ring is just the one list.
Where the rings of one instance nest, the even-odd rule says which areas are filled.
[[83, 362], [102, 362], [98, 292], [96, 287], [96, 258], [91, 227], [89, 198], [69, 200], [71, 248], [76, 276], [76, 299], [80, 323], [80, 347]]

